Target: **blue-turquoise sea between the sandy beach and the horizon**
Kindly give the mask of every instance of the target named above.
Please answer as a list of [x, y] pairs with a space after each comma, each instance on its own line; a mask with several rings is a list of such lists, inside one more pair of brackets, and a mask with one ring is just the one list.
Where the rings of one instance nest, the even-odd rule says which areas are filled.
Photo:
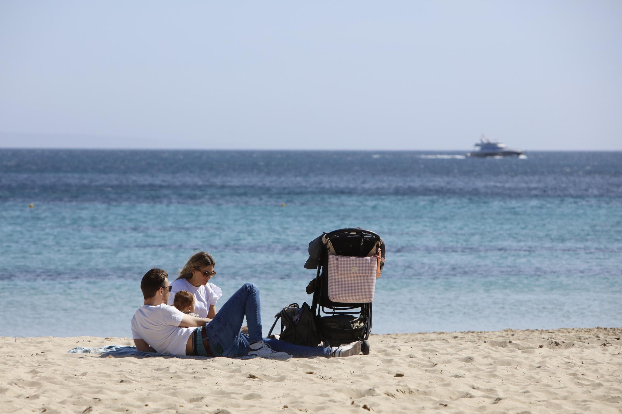
[[464, 154], [0, 149], [0, 336], [131, 337], [142, 275], [197, 251], [266, 335], [351, 227], [386, 243], [374, 334], [622, 326], [622, 152]]

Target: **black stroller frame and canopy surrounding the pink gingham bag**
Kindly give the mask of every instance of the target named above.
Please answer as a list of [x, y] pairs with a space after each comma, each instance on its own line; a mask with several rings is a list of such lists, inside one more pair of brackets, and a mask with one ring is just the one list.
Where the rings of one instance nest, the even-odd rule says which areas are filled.
[[[381, 249], [381, 257], [384, 257], [384, 242], [378, 234], [361, 228], [338, 229], [326, 233], [322, 237], [323, 248], [320, 260], [318, 261], [317, 275], [315, 277], [315, 287], [313, 289], [313, 301], [311, 308], [315, 314], [316, 326], [320, 339], [325, 343], [329, 339], [322, 331], [322, 313], [330, 315], [339, 314], [359, 314], [359, 318], [364, 322], [364, 329], [360, 335], [353, 338], [353, 341], [362, 341], [362, 351], [364, 355], [369, 354], [369, 334], [371, 333], [372, 306], [368, 303], [340, 303], [328, 298], [328, 255], [344, 255], [366, 257], [376, 254], [376, 249]], [[381, 264], [381, 268], [383, 267]]]

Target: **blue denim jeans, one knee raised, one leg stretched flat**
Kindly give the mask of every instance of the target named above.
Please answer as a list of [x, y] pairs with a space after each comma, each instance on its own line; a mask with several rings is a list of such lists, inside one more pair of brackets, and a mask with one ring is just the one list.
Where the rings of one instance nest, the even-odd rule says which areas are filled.
[[[239, 331], [246, 315], [248, 335]], [[330, 348], [290, 344], [279, 339], [262, 338], [261, 301], [259, 288], [246, 283], [225, 302], [213, 320], [205, 326], [214, 356], [240, 357], [248, 355], [248, 346], [262, 340], [274, 351], [287, 352], [295, 357], [329, 356]]]

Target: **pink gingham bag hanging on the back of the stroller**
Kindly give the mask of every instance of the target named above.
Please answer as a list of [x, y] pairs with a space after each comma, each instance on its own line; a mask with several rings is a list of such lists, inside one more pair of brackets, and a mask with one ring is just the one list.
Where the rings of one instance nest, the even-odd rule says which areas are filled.
[[369, 303], [376, 291], [376, 256], [328, 255], [328, 299], [339, 303]]

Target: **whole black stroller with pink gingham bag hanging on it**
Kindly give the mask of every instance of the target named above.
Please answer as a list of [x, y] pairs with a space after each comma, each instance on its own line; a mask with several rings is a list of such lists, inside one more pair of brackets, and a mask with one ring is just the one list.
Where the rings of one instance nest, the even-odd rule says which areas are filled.
[[307, 293], [313, 293], [315, 325], [326, 345], [362, 341], [363, 355], [369, 354], [371, 302], [384, 254], [380, 236], [361, 228], [324, 233], [309, 243], [305, 269], [317, 269], [317, 275]]

